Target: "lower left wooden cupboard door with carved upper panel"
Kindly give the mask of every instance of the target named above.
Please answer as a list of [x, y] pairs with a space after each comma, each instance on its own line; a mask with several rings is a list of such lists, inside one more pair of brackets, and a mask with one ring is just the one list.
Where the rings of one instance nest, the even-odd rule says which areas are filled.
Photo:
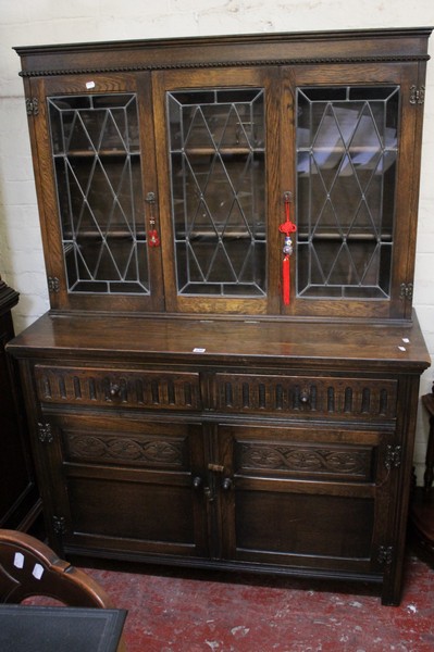
[[51, 510], [65, 550], [207, 556], [201, 426], [69, 415], [49, 423]]

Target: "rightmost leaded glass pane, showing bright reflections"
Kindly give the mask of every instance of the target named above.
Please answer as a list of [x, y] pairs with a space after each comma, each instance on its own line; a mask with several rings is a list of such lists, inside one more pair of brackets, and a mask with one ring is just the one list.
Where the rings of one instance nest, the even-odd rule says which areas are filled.
[[398, 87], [297, 90], [297, 293], [390, 291]]

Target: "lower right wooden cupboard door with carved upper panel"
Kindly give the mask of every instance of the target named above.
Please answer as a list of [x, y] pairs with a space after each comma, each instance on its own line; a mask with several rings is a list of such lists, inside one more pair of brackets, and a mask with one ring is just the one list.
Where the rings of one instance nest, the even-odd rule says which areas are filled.
[[388, 522], [383, 455], [390, 437], [314, 425], [221, 426], [224, 559], [381, 572]]

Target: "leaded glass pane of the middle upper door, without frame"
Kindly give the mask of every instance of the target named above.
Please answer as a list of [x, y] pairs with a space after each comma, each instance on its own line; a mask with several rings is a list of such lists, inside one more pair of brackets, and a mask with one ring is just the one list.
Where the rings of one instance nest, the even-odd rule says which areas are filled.
[[179, 294], [263, 297], [262, 89], [168, 93]]

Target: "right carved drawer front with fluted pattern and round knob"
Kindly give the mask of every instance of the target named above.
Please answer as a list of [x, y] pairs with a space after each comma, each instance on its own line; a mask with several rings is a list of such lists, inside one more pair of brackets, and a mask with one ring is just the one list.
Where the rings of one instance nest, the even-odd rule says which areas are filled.
[[216, 374], [218, 410], [386, 421], [396, 416], [396, 380]]

